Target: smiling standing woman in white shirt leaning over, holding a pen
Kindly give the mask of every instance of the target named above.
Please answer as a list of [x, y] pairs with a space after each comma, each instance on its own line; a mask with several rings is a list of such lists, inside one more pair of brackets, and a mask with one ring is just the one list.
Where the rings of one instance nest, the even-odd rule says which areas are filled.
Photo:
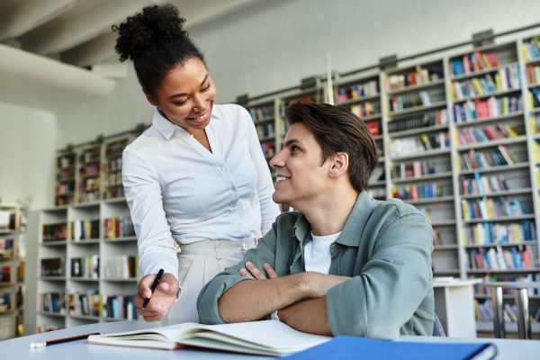
[[144, 275], [135, 304], [145, 320], [168, 311], [169, 321], [198, 322], [202, 286], [242, 260], [279, 214], [255, 125], [242, 107], [214, 104], [216, 86], [184, 21], [173, 5], [152, 5], [112, 27], [120, 60], [133, 61], [156, 106], [152, 126], [122, 157]]

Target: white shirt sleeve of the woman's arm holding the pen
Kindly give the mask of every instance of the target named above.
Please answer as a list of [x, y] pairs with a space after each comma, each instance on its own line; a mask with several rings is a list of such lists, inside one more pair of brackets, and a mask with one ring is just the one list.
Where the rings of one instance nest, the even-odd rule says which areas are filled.
[[178, 259], [155, 168], [136, 150], [126, 148], [122, 154], [121, 175], [138, 238], [139, 266], [143, 275], [157, 274], [163, 268], [177, 278]]

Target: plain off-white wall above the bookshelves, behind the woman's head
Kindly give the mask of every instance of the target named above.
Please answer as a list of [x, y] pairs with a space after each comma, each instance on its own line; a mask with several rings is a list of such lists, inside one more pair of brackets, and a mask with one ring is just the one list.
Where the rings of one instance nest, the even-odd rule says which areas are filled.
[[[537, 23], [538, 14], [538, 0], [266, 0], [190, 34], [223, 103], [322, 74], [327, 53], [333, 69], [347, 72], [389, 54], [404, 57], [470, 40], [473, 32]], [[149, 122], [151, 112], [131, 71], [107, 98], [59, 113], [58, 146], [129, 130]]]

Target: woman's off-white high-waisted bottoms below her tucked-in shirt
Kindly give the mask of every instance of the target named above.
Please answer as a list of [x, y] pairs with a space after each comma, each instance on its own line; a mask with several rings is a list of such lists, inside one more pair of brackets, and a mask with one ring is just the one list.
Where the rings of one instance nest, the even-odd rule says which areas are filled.
[[246, 251], [257, 246], [255, 239], [238, 241], [202, 240], [181, 245], [178, 253], [178, 282], [182, 295], [171, 307], [168, 322], [199, 322], [197, 297], [202, 286], [226, 267], [238, 264]]

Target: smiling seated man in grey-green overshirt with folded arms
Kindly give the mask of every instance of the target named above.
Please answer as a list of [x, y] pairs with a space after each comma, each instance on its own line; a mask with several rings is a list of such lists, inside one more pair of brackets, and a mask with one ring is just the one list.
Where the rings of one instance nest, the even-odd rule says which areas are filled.
[[286, 118], [274, 200], [298, 211], [202, 288], [201, 322], [270, 316], [323, 335], [431, 335], [432, 229], [413, 206], [365, 193], [377, 164], [365, 123], [329, 104], [294, 104]]

